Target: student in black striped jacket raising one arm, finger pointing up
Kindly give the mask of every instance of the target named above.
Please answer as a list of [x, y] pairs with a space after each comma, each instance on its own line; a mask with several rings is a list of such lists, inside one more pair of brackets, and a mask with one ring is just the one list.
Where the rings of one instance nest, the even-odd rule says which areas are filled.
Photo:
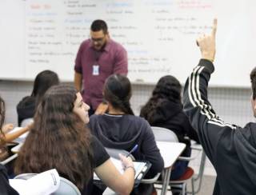
[[[186, 81], [184, 108], [194, 129], [198, 130], [202, 147], [217, 172], [214, 195], [254, 195], [256, 192], [256, 124], [244, 128], [225, 123], [214, 112], [207, 98], [207, 86], [214, 72], [215, 34], [198, 38], [202, 59]], [[251, 105], [256, 113], [256, 69], [250, 74]], [[236, 106], [236, 105], [234, 105]]]

